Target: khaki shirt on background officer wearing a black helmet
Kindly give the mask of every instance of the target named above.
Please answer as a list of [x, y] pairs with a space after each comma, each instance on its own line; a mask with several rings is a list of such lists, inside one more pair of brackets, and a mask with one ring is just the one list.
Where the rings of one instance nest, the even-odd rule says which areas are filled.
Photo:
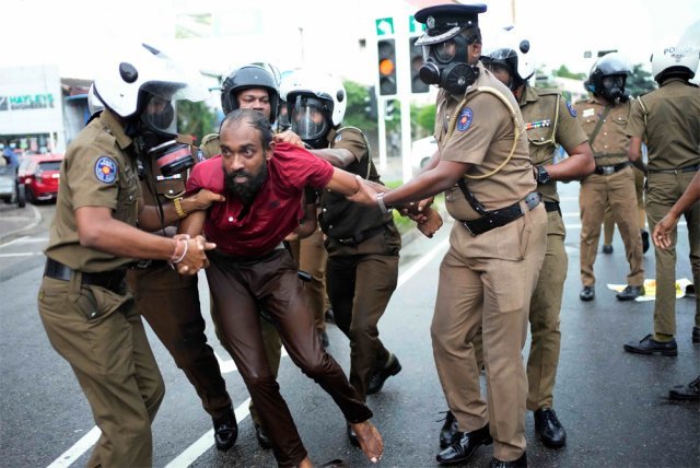
[[630, 102], [616, 103], [603, 120], [598, 133], [592, 133], [605, 113], [605, 104], [597, 97], [592, 97], [575, 104], [579, 121], [588, 136], [588, 143], [595, 157], [596, 166], [610, 166], [628, 161], [630, 139], [625, 132], [630, 116]]

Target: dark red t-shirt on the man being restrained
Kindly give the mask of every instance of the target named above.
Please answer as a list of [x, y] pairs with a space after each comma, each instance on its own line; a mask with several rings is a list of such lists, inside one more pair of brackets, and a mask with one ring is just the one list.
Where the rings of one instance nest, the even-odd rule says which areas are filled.
[[226, 197], [207, 212], [205, 235], [229, 255], [256, 257], [277, 247], [303, 218], [304, 187], [325, 187], [334, 172], [328, 162], [289, 143], [277, 144], [267, 167], [268, 177], [242, 219], [243, 203], [224, 188], [221, 155], [195, 165], [189, 175], [187, 195], [206, 188]]

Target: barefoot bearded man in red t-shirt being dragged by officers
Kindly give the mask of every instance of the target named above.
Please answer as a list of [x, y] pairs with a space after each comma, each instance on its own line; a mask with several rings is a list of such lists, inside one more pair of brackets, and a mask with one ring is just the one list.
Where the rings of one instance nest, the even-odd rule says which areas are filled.
[[209, 254], [207, 280], [221, 312], [219, 332], [243, 376], [280, 466], [311, 467], [311, 460], [270, 371], [258, 311], [265, 309], [292, 361], [336, 401], [358, 434], [362, 451], [376, 463], [382, 436], [338, 363], [316, 337], [294, 260], [282, 241], [303, 218], [304, 187], [327, 188], [348, 197], [360, 185], [307, 151], [276, 143], [260, 113], [236, 109], [220, 129], [221, 154], [195, 166], [187, 191], [207, 188], [226, 197], [209, 211], [190, 214], [179, 231], [217, 244]]

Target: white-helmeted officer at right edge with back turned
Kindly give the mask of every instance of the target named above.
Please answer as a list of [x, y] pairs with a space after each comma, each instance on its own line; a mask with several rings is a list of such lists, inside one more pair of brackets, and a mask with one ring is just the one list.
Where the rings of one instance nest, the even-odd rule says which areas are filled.
[[[649, 148], [646, 217], [649, 227], [668, 213], [700, 168], [700, 90], [689, 82], [698, 68], [698, 50], [665, 44], [652, 56], [652, 73], [658, 90], [640, 96], [632, 105], [627, 134], [631, 137], [630, 160], [641, 168], [642, 138]], [[700, 343], [700, 203], [684, 212], [688, 225], [690, 266], [696, 288], [696, 323], [692, 342]], [[654, 239], [656, 243], [656, 239]], [[625, 344], [641, 354], [677, 355], [676, 344], [676, 230], [667, 248], [655, 246], [656, 301], [654, 334]]]

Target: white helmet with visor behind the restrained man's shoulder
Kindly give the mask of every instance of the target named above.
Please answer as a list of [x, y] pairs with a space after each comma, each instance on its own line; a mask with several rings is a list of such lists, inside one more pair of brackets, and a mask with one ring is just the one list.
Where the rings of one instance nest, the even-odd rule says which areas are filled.
[[[342, 82], [323, 71], [298, 69], [280, 84], [292, 131], [312, 148], [326, 148], [326, 136], [342, 122], [348, 96]], [[323, 117], [323, 118], [320, 118]]]

